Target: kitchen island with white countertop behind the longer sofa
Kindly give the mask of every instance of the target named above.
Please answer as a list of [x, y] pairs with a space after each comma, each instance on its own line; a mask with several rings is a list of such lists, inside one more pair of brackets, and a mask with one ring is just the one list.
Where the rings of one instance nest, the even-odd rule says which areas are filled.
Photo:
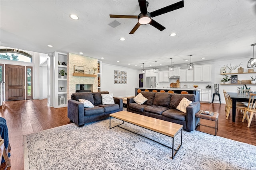
[[196, 101], [200, 101], [200, 89], [198, 88], [135, 88], [135, 96], [138, 94], [137, 90], [140, 89], [141, 91], [145, 91], [145, 89], [148, 89], [150, 92], [152, 90], [156, 90], [157, 92], [160, 92], [160, 90], [164, 90], [165, 92], [168, 92], [169, 90], [174, 91], [174, 93], [180, 94], [182, 91], [187, 91], [188, 94], [195, 94], [196, 95]]

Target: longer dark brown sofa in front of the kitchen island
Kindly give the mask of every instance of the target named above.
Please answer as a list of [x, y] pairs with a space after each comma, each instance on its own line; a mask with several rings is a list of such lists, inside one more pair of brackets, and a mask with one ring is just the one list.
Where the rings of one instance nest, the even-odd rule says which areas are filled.
[[[184, 130], [189, 132], [194, 131], [196, 123], [199, 121], [199, 119], [195, 117], [195, 114], [200, 110], [200, 102], [196, 101], [194, 94], [159, 92], [141, 92], [141, 94], [148, 100], [144, 104], [139, 105], [134, 102], [133, 98], [127, 98], [127, 111], [178, 123], [183, 125]], [[192, 101], [191, 106], [186, 108], [187, 113], [176, 109], [183, 97]]]

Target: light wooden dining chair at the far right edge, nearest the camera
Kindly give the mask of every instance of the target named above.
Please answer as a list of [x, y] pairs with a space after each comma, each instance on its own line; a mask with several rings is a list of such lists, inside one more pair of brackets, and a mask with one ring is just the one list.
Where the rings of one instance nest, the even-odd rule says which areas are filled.
[[[244, 113], [244, 116], [243, 116], [243, 119], [242, 119], [242, 122], [244, 122], [244, 119], [246, 117], [246, 119], [248, 120], [248, 125], [247, 127], [250, 127], [251, 123], [252, 123], [252, 117], [254, 115], [254, 113], [256, 113], [256, 94], [253, 94], [253, 93], [250, 93], [250, 98], [249, 98], [249, 101], [248, 101], [248, 106], [247, 108], [245, 108], [245, 113]], [[250, 112], [250, 118], [249, 118], [249, 113]]]

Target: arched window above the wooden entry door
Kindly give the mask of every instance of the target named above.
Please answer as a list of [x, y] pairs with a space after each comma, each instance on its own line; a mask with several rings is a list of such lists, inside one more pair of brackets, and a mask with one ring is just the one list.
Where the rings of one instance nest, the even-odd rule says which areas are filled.
[[32, 55], [19, 49], [11, 49], [7, 47], [0, 49], [0, 59], [32, 63]]

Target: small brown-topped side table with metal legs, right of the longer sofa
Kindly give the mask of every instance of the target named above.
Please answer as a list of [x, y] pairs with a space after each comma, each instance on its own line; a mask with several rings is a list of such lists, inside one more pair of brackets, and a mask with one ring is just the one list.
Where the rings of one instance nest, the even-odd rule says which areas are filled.
[[[206, 115], [206, 114], [201, 114], [202, 111], [203, 111], [203, 110], [199, 110], [199, 111], [195, 114], [195, 116], [199, 118], [199, 125], [196, 125], [196, 129], [197, 129], [200, 125], [202, 125], [202, 124], [201, 124], [201, 119], [206, 119], [206, 120], [210, 120], [210, 121], [215, 121], [215, 127], [211, 127], [211, 126], [208, 126], [208, 125], [202, 125], [202, 126], [214, 128], [214, 129], [215, 129], [215, 136], [216, 136], [216, 134], [217, 134], [217, 129], [218, 129], [218, 117], [219, 117], [219, 113], [213, 112], [213, 115], [210, 116], [210, 115]], [[196, 131], [197, 131], [197, 130], [196, 130]], [[202, 131], [200, 131], [200, 132], [202, 132]], [[204, 132], [204, 133], [206, 133], [206, 132]], [[210, 133], [208, 133], [208, 134], [210, 134]], [[212, 135], [212, 134], [210, 134], [210, 135]]]

